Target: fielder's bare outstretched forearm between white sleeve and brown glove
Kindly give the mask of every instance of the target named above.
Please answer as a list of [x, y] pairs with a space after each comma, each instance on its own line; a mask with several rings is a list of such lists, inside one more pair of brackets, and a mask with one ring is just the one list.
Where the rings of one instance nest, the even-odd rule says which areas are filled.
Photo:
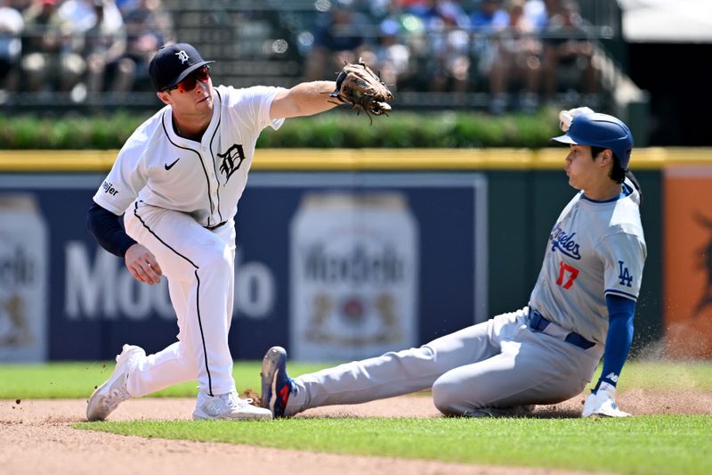
[[336, 87], [334, 81], [312, 81], [282, 89], [271, 102], [270, 119], [312, 116], [336, 107], [329, 94]]

